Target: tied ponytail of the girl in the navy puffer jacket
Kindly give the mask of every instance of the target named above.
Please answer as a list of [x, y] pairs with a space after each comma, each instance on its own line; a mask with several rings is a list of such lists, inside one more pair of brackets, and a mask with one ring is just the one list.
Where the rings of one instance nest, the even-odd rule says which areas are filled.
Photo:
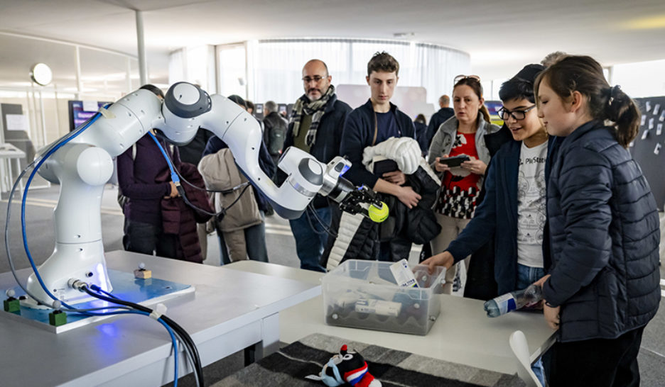
[[639, 108], [618, 85], [607, 88], [604, 94], [607, 96], [604, 118], [615, 123], [617, 142], [622, 147], [628, 147], [639, 132]]

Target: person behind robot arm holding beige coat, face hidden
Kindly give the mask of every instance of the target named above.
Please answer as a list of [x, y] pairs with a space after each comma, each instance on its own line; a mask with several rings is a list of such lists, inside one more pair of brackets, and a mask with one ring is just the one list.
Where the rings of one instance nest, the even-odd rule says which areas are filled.
[[[240, 96], [232, 95], [229, 96], [229, 99], [237, 103], [239, 106], [242, 106], [242, 108], [245, 108], [244, 100]], [[218, 155], [218, 159], [216, 160], [207, 157], [208, 155], [217, 155], [218, 152], [222, 151], [227, 152], [228, 145], [220, 140], [220, 138], [213, 136], [208, 140], [205, 150], [203, 151], [203, 158], [199, 164], [199, 169], [202, 170], [202, 175], [207, 184], [210, 184], [210, 181], [225, 181], [227, 174], [233, 174], [234, 176], [242, 175], [236, 173], [238, 168], [237, 165], [232, 162], [232, 157], [229, 158], [222, 157], [228, 155]], [[230, 153], [230, 151], [228, 151], [228, 153]], [[208, 164], [205, 164], [204, 162], [207, 162]], [[276, 167], [263, 141], [261, 141], [261, 148], [259, 149], [259, 167], [269, 177], [274, 176]], [[243, 179], [243, 177], [244, 176], [238, 176], [239, 179]], [[213, 188], [229, 189], [232, 187], [222, 188], [220, 186], [208, 186], [208, 189]], [[222, 230], [222, 228], [225, 228], [225, 225], [220, 225], [220, 222], [217, 222], [216, 225], [217, 236], [220, 240], [222, 264], [247, 259], [247, 257], [256, 261], [268, 262], [265, 225], [265, 211], [268, 208], [268, 201], [263, 194], [261, 194], [259, 189], [256, 189], [256, 187], [252, 186], [249, 194], [244, 191], [245, 188], [247, 188], [247, 186], [239, 187], [237, 190], [234, 190], [230, 194], [233, 196], [232, 199], [228, 201], [229, 203], [217, 203], [217, 206], [220, 206], [220, 204], [225, 206], [232, 203], [232, 201], [238, 196], [240, 197], [238, 202], [240, 204], [236, 204], [232, 207], [233, 213], [229, 210], [229, 213], [220, 220], [220, 222], [225, 223], [225, 225], [226, 223], [232, 223], [228, 225], [228, 231], [225, 232]], [[249, 200], [249, 198], [252, 199]], [[244, 204], [246, 204], [246, 206], [243, 206]], [[256, 211], [253, 211], [254, 208], [256, 208]]]

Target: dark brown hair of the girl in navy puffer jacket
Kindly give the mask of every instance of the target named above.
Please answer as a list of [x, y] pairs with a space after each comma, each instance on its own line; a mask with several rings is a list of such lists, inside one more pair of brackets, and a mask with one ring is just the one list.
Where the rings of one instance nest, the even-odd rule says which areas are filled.
[[595, 120], [614, 123], [617, 142], [628, 147], [639, 132], [640, 113], [637, 104], [620, 86], [610, 86], [602, 74], [602, 66], [592, 57], [566, 56], [541, 72], [535, 91], [544, 80], [564, 101], [579, 91], [588, 100], [590, 116]]

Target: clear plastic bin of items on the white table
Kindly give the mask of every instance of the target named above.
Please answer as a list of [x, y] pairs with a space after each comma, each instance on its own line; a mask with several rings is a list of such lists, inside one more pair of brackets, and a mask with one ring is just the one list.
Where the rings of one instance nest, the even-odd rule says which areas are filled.
[[349, 259], [323, 276], [328, 325], [427, 335], [440, 313], [445, 268], [413, 267], [417, 288], [396, 285], [394, 262]]

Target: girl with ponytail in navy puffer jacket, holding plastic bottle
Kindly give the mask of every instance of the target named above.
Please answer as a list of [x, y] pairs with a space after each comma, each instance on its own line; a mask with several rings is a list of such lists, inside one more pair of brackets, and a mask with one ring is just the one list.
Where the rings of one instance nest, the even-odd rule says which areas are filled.
[[539, 281], [558, 335], [551, 386], [639, 386], [642, 332], [660, 301], [659, 214], [627, 150], [639, 110], [591, 57], [553, 64], [536, 96], [548, 133], [564, 138], [547, 192], [553, 264]]

